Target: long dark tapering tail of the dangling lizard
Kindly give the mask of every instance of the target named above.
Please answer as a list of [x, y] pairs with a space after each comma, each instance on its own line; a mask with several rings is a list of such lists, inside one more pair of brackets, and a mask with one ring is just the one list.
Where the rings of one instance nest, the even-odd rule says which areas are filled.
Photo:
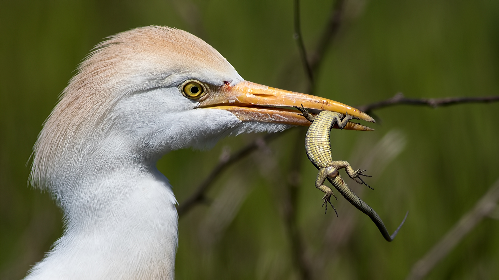
[[388, 233], [388, 230], [385, 227], [385, 224], [383, 224], [383, 221], [378, 216], [376, 211], [374, 211], [371, 208], [371, 206], [367, 205], [367, 203], [362, 201], [362, 199], [360, 199], [360, 197], [358, 197], [352, 191], [352, 189], [345, 183], [345, 181], [343, 180], [343, 178], [341, 178], [341, 176], [339, 174], [334, 179], [331, 179], [329, 177], [327, 179], [338, 190], [338, 192], [341, 193], [346, 198], [346, 200], [348, 200], [348, 202], [350, 202], [353, 206], [355, 206], [357, 209], [359, 209], [364, 214], [369, 216], [369, 218], [371, 218], [371, 220], [378, 227], [379, 231], [381, 232], [383, 237], [386, 239], [386, 241], [392, 241], [395, 238], [395, 236], [399, 232], [400, 228], [404, 224], [405, 219], [407, 218], [407, 215], [409, 214], [409, 211], [407, 211], [407, 213], [404, 217], [404, 220], [402, 221], [402, 223], [400, 223], [400, 226], [395, 230], [395, 232], [392, 235], [390, 235]]

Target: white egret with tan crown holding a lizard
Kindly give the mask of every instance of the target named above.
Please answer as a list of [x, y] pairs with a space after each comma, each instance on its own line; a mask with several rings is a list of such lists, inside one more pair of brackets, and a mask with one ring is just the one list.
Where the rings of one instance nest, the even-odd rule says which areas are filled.
[[52, 194], [65, 228], [25, 279], [174, 279], [177, 201], [157, 160], [228, 135], [308, 125], [297, 111], [272, 107], [300, 104], [374, 121], [335, 101], [245, 81], [179, 29], [142, 27], [100, 43], [33, 148], [31, 182]]

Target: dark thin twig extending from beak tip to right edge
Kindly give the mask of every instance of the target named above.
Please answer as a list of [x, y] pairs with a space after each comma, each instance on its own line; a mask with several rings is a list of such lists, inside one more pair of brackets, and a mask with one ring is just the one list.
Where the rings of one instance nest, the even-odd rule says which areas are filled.
[[369, 113], [376, 109], [381, 109], [394, 105], [423, 105], [433, 108], [441, 106], [449, 106], [462, 103], [489, 103], [498, 102], [499, 95], [484, 96], [484, 97], [446, 97], [446, 98], [407, 98], [402, 93], [397, 93], [394, 97], [382, 100], [379, 102], [371, 103], [369, 105], [357, 107], [360, 111]]

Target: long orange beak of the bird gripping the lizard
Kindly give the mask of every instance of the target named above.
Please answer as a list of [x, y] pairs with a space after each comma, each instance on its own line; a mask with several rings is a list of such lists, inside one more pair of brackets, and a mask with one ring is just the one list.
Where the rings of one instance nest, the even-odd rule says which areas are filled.
[[[219, 92], [207, 95], [200, 102], [200, 108], [227, 110], [241, 121], [257, 121], [268, 123], [281, 123], [294, 126], [309, 126], [310, 122], [300, 112], [287, 108], [299, 106], [308, 109], [337, 112], [375, 123], [374, 119], [364, 112], [351, 106], [333, 100], [267, 87], [248, 81], [242, 81], [234, 86], [222, 86]], [[373, 129], [349, 122], [347, 130], [372, 131]]]

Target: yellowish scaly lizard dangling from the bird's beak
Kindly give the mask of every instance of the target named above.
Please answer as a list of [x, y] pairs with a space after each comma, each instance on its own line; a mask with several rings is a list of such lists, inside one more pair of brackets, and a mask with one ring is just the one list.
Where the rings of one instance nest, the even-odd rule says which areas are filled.
[[[324, 192], [324, 196], [322, 197], [322, 200], [324, 200], [322, 206], [324, 206], [324, 204], [326, 205], [324, 213], [327, 212], [327, 203], [329, 202], [331, 207], [334, 209], [336, 216], [338, 216], [338, 212], [336, 211], [336, 209], [334, 208], [334, 206], [331, 204], [330, 201], [331, 196], [334, 196], [336, 200], [338, 200], [338, 198], [333, 194], [331, 188], [324, 185], [324, 181], [327, 179], [336, 188], [336, 190], [338, 190], [338, 192], [341, 193], [343, 197], [346, 198], [346, 200], [348, 200], [348, 202], [350, 202], [353, 206], [355, 206], [357, 209], [359, 209], [361, 212], [363, 212], [369, 218], [371, 218], [371, 220], [378, 227], [378, 230], [381, 232], [386, 241], [389, 242], [392, 241], [399, 232], [402, 225], [404, 224], [407, 215], [409, 214], [409, 211], [406, 213], [404, 220], [398, 226], [395, 232], [392, 235], [390, 235], [385, 225], [383, 224], [383, 221], [376, 213], [376, 211], [374, 211], [367, 203], [362, 201], [362, 199], [360, 199], [360, 197], [358, 197], [352, 191], [352, 189], [350, 189], [350, 187], [345, 183], [343, 178], [341, 178], [338, 170], [344, 168], [350, 178], [352, 178], [359, 184], [365, 184], [369, 188], [371, 187], [368, 184], [366, 184], [364, 180], [362, 180], [359, 176], [368, 176], [368, 177], [371, 176], [363, 173], [366, 170], [357, 169], [354, 171], [354, 169], [352, 168], [352, 166], [350, 166], [348, 161], [332, 159], [331, 143], [330, 143], [331, 129], [335, 125], [339, 129], [345, 128], [345, 126], [349, 123], [351, 119], [353, 119], [353, 117], [351, 115], [348, 115], [348, 112], [346, 112], [346, 115], [342, 115], [340, 113], [329, 112], [329, 111], [322, 111], [316, 116], [314, 116], [308, 113], [308, 110], [303, 108], [303, 105], [301, 108], [297, 106], [294, 107], [301, 112], [301, 114], [298, 115], [305, 117], [305, 119], [307, 119], [309, 122], [312, 123], [308, 128], [307, 134], [305, 136], [305, 150], [308, 159], [312, 162], [313, 165], [315, 165], [315, 167], [317, 167], [317, 169], [319, 169], [319, 172], [317, 174], [317, 179], [315, 180], [315, 187]], [[365, 128], [364, 130], [366, 131], [373, 130], [368, 127], [364, 128]], [[357, 179], [359, 179], [360, 182]]]

